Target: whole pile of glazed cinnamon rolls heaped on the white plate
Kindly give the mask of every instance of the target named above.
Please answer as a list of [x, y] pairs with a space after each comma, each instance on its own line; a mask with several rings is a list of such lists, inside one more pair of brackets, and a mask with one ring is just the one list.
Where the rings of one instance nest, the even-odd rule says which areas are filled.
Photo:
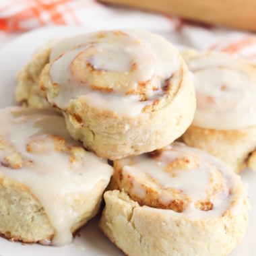
[[1, 110], [2, 234], [69, 243], [104, 193], [100, 228], [126, 255], [224, 256], [241, 242], [250, 205], [236, 172], [256, 170], [245, 59], [100, 31], [44, 45], [17, 80], [29, 108]]

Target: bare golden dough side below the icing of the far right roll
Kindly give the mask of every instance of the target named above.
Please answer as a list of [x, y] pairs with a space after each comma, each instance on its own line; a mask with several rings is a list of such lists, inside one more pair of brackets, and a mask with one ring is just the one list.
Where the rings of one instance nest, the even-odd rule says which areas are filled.
[[204, 129], [191, 126], [181, 141], [226, 162], [234, 172], [256, 170], [256, 127], [239, 130]]

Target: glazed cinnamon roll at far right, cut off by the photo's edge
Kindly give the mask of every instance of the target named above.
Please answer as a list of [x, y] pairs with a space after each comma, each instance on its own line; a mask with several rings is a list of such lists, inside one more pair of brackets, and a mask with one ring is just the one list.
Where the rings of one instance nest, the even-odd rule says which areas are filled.
[[229, 164], [256, 170], [256, 69], [225, 53], [185, 51], [197, 110], [182, 140]]

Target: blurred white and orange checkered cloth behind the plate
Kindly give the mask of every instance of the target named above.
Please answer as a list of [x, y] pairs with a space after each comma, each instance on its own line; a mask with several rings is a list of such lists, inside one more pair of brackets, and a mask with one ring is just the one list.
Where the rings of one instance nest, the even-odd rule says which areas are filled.
[[255, 34], [111, 7], [94, 0], [0, 0], [0, 40], [11, 32], [60, 24], [90, 25], [96, 30], [148, 29], [185, 46], [235, 53], [256, 64]]

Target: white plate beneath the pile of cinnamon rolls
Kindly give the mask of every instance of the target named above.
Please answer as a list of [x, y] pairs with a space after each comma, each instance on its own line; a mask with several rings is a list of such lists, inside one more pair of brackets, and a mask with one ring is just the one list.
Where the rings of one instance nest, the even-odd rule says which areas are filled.
[[[15, 73], [30, 59], [33, 51], [43, 42], [51, 38], [80, 34], [97, 28], [48, 27], [28, 32], [0, 51], [0, 108], [11, 106], [13, 103], [13, 88], [15, 87]], [[0, 117], [1, 118], [1, 117]], [[1, 120], [1, 119], [0, 119]], [[4, 125], [4, 124], [1, 124]], [[245, 171], [243, 181], [249, 187], [252, 205], [249, 228], [241, 245], [230, 256], [256, 255], [256, 173]], [[90, 255], [123, 255], [98, 230], [98, 218], [91, 220], [79, 232], [73, 244], [65, 247], [43, 247], [42, 245], [22, 245], [11, 243], [0, 238], [0, 256], [90, 256]], [[139, 255], [138, 255], [139, 256]], [[203, 256], [203, 255], [198, 255]]]

